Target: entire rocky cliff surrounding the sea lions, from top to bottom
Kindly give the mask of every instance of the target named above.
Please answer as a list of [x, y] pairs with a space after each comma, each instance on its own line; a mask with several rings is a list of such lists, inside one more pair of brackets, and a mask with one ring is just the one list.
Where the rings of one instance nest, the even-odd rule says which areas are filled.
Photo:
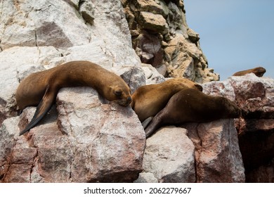
[[[209, 82], [218, 75], [184, 13], [180, 0], [1, 1], [0, 182], [273, 182], [274, 81]], [[74, 60], [115, 72], [132, 92], [164, 77], [208, 82], [204, 92], [237, 102], [242, 118], [163, 127], [145, 140], [130, 107], [76, 87], [18, 136], [35, 110], [19, 115], [20, 81]]]

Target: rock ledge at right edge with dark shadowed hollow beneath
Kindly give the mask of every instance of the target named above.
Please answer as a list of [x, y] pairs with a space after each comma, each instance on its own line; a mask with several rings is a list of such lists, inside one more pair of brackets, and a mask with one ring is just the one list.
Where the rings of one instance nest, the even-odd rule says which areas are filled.
[[[274, 80], [248, 74], [203, 84], [206, 94], [226, 96], [242, 109], [235, 121], [247, 182], [268, 182], [274, 158]], [[259, 173], [262, 172], [262, 173]]]

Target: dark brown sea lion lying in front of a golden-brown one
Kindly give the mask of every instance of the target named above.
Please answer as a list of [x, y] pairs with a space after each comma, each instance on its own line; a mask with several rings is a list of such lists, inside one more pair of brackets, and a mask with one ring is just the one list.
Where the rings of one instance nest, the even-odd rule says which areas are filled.
[[233, 101], [221, 96], [209, 96], [196, 89], [183, 89], [174, 94], [145, 128], [148, 138], [163, 125], [180, 125], [184, 122], [211, 122], [221, 118], [240, 116]]

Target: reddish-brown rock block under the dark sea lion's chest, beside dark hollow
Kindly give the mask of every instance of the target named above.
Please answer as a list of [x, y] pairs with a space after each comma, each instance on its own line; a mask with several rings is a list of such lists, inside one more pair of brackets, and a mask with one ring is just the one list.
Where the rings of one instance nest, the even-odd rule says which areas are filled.
[[197, 182], [244, 182], [244, 165], [233, 120], [181, 127], [188, 129], [195, 145]]

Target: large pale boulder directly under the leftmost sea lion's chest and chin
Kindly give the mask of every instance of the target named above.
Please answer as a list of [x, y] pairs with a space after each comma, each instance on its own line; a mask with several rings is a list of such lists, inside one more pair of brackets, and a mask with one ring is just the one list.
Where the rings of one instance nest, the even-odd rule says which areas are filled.
[[98, 99], [96, 91], [90, 88], [64, 89], [58, 94], [58, 125], [67, 135], [75, 155], [72, 181], [136, 179], [142, 170], [145, 148], [143, 127], [131, 108], [101, 104], [102, 100]]

